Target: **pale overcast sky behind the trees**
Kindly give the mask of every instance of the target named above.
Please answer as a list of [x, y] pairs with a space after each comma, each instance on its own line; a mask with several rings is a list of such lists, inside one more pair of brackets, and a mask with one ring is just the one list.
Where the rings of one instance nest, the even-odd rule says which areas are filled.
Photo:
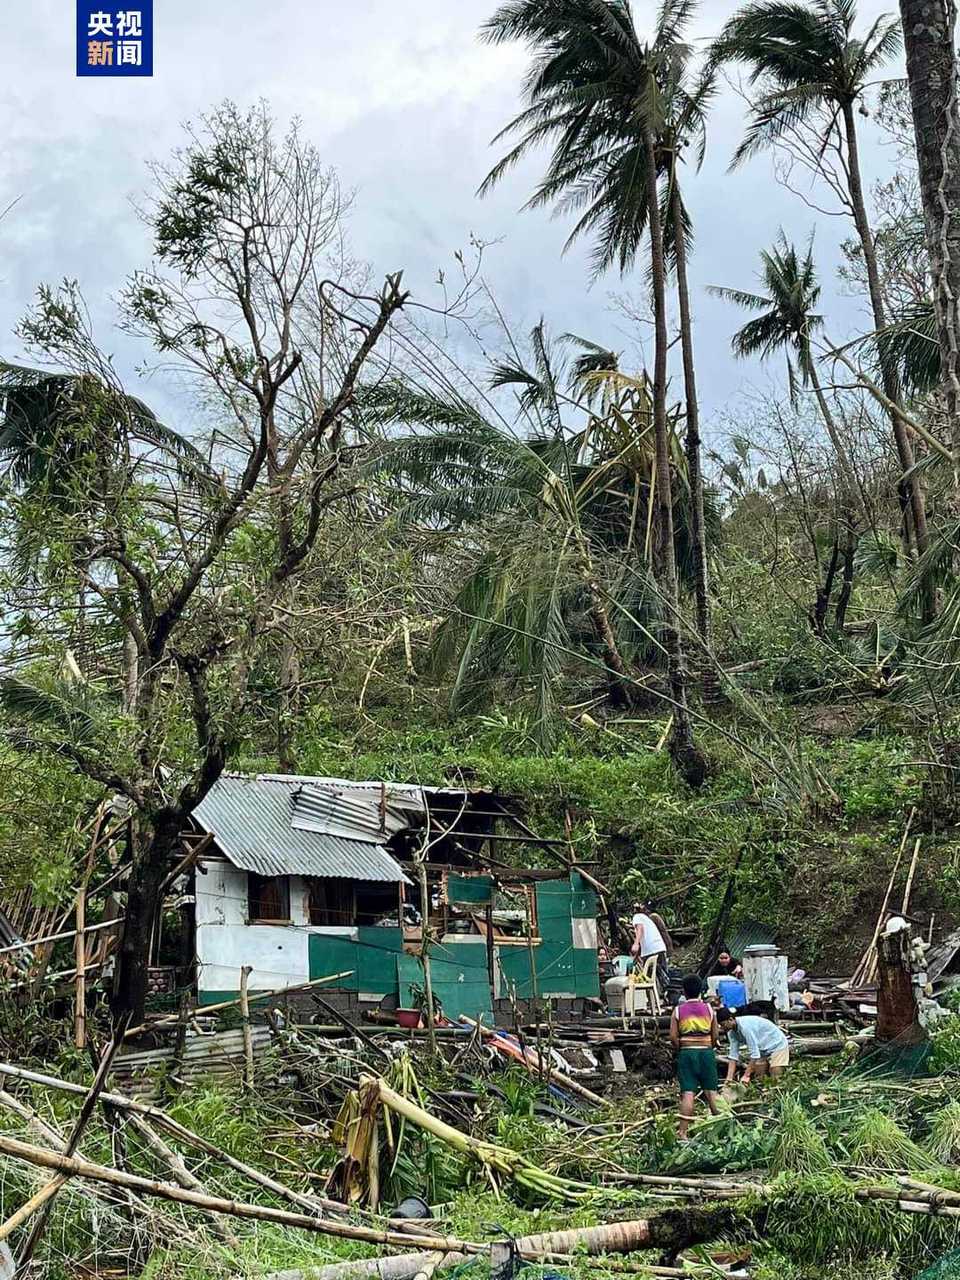
[[[630, 349], [636, 330], [612, 307], [612, 294], [639, 292], [639, 282], [611, 275], [591, 284], [586, 248], [562, 256], [564, 224], [518, 211], [543, 157], [493, 196], [475, 195], [497, 159], [490, 138], [518, 109], [526, 65], [522, 47], [477, 40], [493, 8], [494, 0], [155, 0], [154, 78], [78, 79], [73, 4], [17, 5], [0, 54], [0, 207], [17, 200], [0, 223], [0, 353], [18, 355], [12, 329], [37, 283], [76, 276], [101, 344], [132, 375], [136, 352], [111, 329], [111, 298], [150, 253], [131, 201], [148, 187], [146, 163], [177, 146], [186, 119], [224, 97], [243, 106], [264, 97], [279, 120], [301, 118], [305, 134], [356, 189], [352, 248], [379, 274], [403, 268], [415, 294], [429, 297], [438, 269], [452, 268], [472, 233], [498, 242], [488, 251], [486, 276], [518, 329], [543, 314], [557, 332]], [[735, 8], [735, 0], [705, 0], [695, 35], [714, 32]], [[865, 27], [896, 5], [860, 0], [859, 8]], [[635, 0], [641, 29], [654, 10], [653, 0]], [[701, 397], [713, 420], [735, 412], [767, 375], [733, 362], [730, 335], [742, 317], [709, 298], [705, 285], [753, 287], [756, 251], [781, 225], [803, 239], [817, 224], [832, 334], [854, 332], [864, 316], [858, 300], [838, 296], [837, 244], [847, 224], [818, 218], [780, 187], [768, 157], [727, 174], [741, 116], [740, 100], [724, 93], [707, 164], [686, 191], [696, 224]], [[868, 182], [891, 163], [867, 124]], [[170, 403], [155, 392], [146, 394]]]

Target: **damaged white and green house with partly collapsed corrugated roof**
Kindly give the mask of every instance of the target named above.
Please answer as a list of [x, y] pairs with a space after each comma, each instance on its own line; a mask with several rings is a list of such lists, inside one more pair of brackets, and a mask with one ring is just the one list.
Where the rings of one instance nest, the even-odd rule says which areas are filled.
[[[193, 813], [197, 1002], [346, 974], [323, 988], [343, 1012], [422, 1002], [424, 919], [435, 1000], [448, 1018], [599, 995], [598, 897], [588, 872], [511, 865], [549, 850], [489, 790], [224, 774]], [[426, 901], [421, 892], [422, 860]]]

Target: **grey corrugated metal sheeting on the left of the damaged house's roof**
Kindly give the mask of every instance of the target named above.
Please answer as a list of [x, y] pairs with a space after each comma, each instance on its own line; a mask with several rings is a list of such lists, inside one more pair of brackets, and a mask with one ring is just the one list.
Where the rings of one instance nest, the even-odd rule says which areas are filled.
[[293, 799], [301, 786], [302, 780], [283, 774], [224, 774], [193, 810], [193, 818], [244, 872], [410, 883], [381, 845], [294, 829]]

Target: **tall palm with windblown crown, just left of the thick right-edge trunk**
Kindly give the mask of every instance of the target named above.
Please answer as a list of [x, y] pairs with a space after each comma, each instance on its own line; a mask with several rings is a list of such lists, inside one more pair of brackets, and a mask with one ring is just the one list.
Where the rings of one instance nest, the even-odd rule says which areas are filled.
[[[844, 146], [850, 211], [860, 241], [867, 287], [877, 332], [886, 326], [883, 288], [860, 172], [856, 131], [858, 102], [870, 81], [900, 50], [900, 26], [895, 18], [881, 17], [861, 37], [854, 35], [855, 0], [755, 0], [736, 13], [721, 32], [713, 61], [742, 63], [760, 96], [753, 105], [744, 141], [733, 164], [786, 140], [797, 128], [824, 119], [820, 155], [828, 140], [840, 132]], [[882, 362], [883, 392], [891, 404], [900, 403], [896, 369]], [[918, 554], [928, 545], [923, 486], [914, 471], [914, 449], [908, 428], [890, 411], [901, 472], [904, 517], [913, 525]], [[908, 530], [908, 534], [910, 530]]]

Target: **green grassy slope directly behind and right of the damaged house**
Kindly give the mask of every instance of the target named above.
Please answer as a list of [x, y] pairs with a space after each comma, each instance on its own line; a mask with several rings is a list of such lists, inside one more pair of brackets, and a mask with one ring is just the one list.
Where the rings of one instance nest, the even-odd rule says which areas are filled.
[[[401, 717], [392, 709], [388, 721]], [[727, 714], [732, 731], [782, 759], [755, 723]], [[463, 776], [521, 796], [543, 835], [564, 822], [581, 859], [626, 901], [649, 893], [671, 922], [701, 931], [713, 920], [737, 850], [736, 916], [769, 922], [806, 968], [842, 973], [869, 940], [910, 809], [924, 835], [913, 897], [938, 929], [960, 916], [960, 840], [954, 797], [931, 771], [920, 735], [849, 710], [777, 713], [776, 733], [819, 797], [797, 803], [754, 758], [717, 732], [708, 735], [714, 776], [700, 792], [680, 783], [663, 751], [652, 749], [662, 722], [570, 737], [538, 755], [522, 728], [489, 722], [472, 731], [397, 730], [375, 722], [326, 724], [305, 744], [303, 772], [442, 782]], [[269, 767], [265, 762], [251, 762]], [[832, 788], [838, 803], [829, 799]]]

